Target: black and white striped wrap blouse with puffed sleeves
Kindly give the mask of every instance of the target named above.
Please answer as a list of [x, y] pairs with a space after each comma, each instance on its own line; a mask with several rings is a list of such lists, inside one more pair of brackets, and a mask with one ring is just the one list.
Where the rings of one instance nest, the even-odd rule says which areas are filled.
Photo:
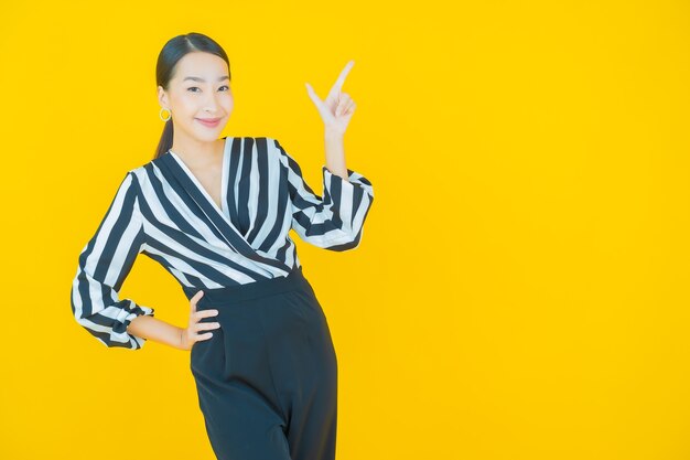
[[222, 207], [169, 150], [130, 170], [79, 255], [72, 285], [75, 319], [106, 346], [141, 349], [127, 332], [150, 307], [118, 292], [139, 254], [159, 261], [184, 288], [219, 288], [287, 276], [300, 267], [290, 228], [314, 246], [354, 249], [374, 201], [371, 183], [323, 165], [323, 197], [300, 165], [267, 137], [225, 137]]

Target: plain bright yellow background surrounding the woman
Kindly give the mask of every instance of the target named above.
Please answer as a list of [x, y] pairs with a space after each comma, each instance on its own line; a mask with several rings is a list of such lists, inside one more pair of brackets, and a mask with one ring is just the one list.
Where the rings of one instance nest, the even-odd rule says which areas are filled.
[[[451, 7], [451, 4], [457, 7]], [[339, 460], [688, 459], [686, 1], [6, 2], [0, 458], [213, 459], [188, 353], [74, 321], [78, 252], [162, 121], [155, 60], [230, 57], [224, 131], [320, 193], [348, 60], [363, 243], [298, 238], [339, 363]], [[140, 257], [123, 297], [186, 323]]]

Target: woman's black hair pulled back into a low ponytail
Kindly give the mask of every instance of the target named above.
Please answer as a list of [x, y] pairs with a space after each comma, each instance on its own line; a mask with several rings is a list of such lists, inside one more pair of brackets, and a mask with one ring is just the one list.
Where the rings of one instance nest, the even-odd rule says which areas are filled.
[[[161, 53], [158, 55], [158, 63], [155, 64], [157, 85], [162, 86], [163, 89], [168, 90], [168, 85], [170, 84], [170, 79], [173, 77], [177, 62], [187, 53], [198, 51], [215, 54], [216, 56], [222, 57], [228, 66], [228, 76], [230, 79], [233, 78], [230, 74], [230, 61], [228, 60], [225, 50], [223, 50], [223, 47], [209, 36], [204, 35], [203, 33], [190, 32], [170, 39], [161, 50]], [[153, 158], [159, 158], [170, 150], [172, 142], [173, 122], [171, 115], [170, 119], [165, 121], [163, 135], [161, 136], [161, 140], [159, 141], [158, 148], [155, 149], [155, 156]]]

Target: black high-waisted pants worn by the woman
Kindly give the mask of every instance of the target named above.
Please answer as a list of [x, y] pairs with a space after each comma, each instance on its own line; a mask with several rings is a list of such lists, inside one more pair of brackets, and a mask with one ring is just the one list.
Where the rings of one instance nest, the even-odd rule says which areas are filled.
[[[198, 288], [184, 288], [192, 298]], [[324, 312], [302, 267], [289, 276], [204, 288], [191, 370], [219, 460], [334, 460], [337, 361]], [[206, 331], [202, 331], [206, 332]]]

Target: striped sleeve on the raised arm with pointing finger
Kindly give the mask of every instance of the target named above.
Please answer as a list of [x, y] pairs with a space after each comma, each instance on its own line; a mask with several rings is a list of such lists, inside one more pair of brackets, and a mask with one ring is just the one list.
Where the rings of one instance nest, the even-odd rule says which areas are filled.
[[364, 222], [374, 202], [371, 182], [351, 169], [348, 180], [321, 167], [323, 197], [302, 176], [298, 162], [276, 140], [281, 162], [288, 170], [292, 202], [292, 228], [314, 246], [343, 252], [359, 246]]

